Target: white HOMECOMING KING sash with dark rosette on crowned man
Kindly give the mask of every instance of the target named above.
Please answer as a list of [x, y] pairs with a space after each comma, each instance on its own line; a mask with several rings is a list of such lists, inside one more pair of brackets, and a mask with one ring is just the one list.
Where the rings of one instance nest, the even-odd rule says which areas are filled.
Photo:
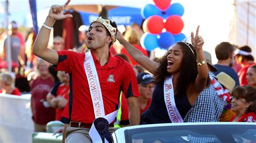
[[[90, 88], [95, 120], [89, 131], [92, 142], [112, 142], [109, 124], [116, 118], [118, 110], [105, 116], [102, 90], [91, 52], [85, 53], [84, 70]], [[120, 104], [119, 104], [120, 106]]]

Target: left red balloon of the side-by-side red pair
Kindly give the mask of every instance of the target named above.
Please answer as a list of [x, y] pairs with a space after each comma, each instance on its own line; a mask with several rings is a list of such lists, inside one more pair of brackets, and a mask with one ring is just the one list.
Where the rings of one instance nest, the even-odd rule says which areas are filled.
[[163, 18], [161, 18], [160, 16], [151, 16], [147, 19], [147, 30], [151, 34], [160, 34], [164, 28]]

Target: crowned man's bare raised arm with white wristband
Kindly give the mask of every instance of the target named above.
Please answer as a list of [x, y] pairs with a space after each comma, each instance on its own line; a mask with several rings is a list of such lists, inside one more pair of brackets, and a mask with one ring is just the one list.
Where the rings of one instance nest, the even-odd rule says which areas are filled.
[[39, 31], [35, 44], [33, 45], [33, 54], [42, 58], [53, 65], [57, 65], [58, 63], [58, 53], [48, 47], [48, 42], [50, 38], [50, 32], [52, 25], [55, 20], [64, 19], [67, 17], [72, 17], [72, 15], [63, 15], [63, 10], [69, 4], [70, 0], [68, 0], [64, 5], [52, 5], [49, 11], [49, 14]]

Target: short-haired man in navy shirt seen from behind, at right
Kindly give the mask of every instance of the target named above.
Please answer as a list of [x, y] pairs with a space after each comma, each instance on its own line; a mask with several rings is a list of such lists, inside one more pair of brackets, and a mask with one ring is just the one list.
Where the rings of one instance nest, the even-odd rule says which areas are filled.
[[215, 47], [215, 54], [218, 62], [214, 66], [218, 69], [218, 71], [213, 72], [213, 74], [218, 75], [221, 71], [223, 71], [233, 78], [235, 81], [235, 86], [239, 86], [238, 74], [232, 67], [230, 67], [234, 60], [234, 46], [229, 42], [221, 42]]

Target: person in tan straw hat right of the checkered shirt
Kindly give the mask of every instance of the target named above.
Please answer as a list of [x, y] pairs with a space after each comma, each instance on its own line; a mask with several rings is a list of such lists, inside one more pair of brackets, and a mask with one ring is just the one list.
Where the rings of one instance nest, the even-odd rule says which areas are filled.
[[230, 119], [235, 115], [235, 113], [231, 110], [232, 97], [230, 96], [233, 88], [235, 87], [235, 81], [231, 76], [224, 72], [220, 72], [216, 77], [218, 78], [219, 83], [229, 91], [227, 94], [223, 94], [224, 98], [228, 98], [229, 101], [227, 101], [219, 121], [230, 121]]

